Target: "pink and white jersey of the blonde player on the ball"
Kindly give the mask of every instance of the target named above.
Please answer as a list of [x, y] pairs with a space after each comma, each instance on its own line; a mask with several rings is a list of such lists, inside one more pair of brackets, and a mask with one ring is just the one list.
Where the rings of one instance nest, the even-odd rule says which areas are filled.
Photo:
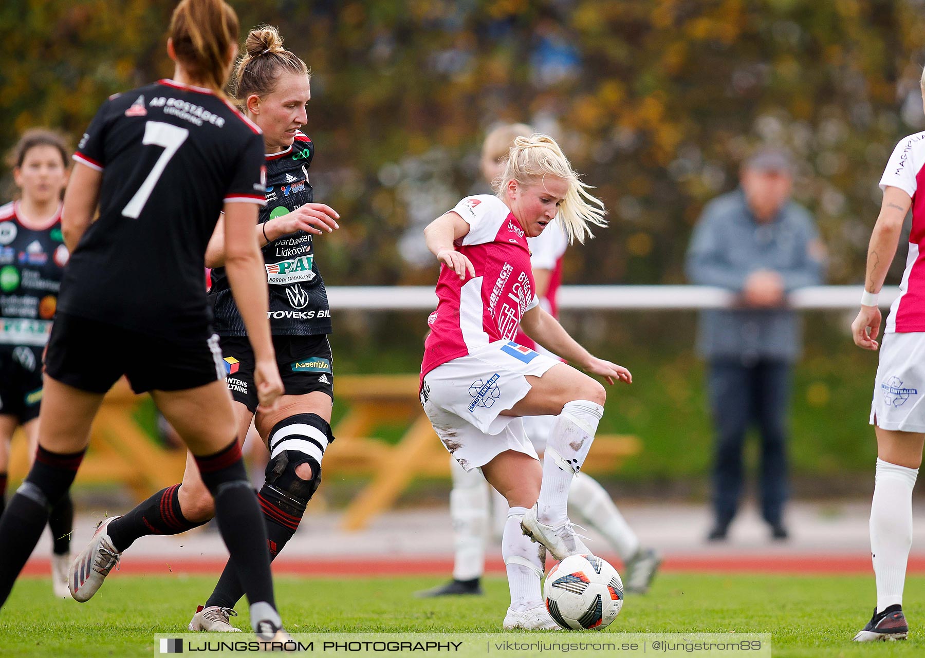
[[475, 277], [466, 274], [461, 281], [446, 264], [440, 266], [437, 311], [427, 318], [422, 381], [438, 365], [496, 340], [512, 340], [524, 312], [539, 303], [524, 229], [504, 202], [479, 194], [452, 212], [469, 225], [456, 249], [472, 262]]

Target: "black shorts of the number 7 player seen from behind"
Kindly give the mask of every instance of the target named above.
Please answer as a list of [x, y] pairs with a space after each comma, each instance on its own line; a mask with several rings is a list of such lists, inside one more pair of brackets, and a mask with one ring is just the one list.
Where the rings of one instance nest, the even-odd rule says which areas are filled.
[[218, 336], [164, 338], [58, 311], [45, 372], [81, 391], [105, 393], [123, 374], [135, 393], [182, 391], [220, 380]]

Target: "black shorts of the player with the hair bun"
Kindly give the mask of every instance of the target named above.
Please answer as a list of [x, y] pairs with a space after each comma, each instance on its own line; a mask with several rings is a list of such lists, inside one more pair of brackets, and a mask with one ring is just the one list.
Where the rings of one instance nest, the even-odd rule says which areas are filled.
[[[222, 356], [225, 383], [236, 402], [253, 413], [257, 409], [257, 389], [253, 384], [253, 349], [247, 336], [223, 335]], [[327, 335], [275, 335], [279, 375], [287, 396], [321, 391], [334, 399], [334, 371]]]

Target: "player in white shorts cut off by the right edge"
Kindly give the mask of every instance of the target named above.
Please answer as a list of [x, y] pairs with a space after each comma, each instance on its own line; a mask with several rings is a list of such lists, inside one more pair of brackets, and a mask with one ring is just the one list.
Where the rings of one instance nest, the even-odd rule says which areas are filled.
[[[925, 90], [925, 73], [921, 84]], [[912, 546], [912, 489], [925, 442], [925, 133], [896, 144], [880, 187], [880, 216], [870, 236], [861, 310], [851, 324], [855, 345], [876, 350], [882, 322], [877, 295], [893, 262], [912, 207], [906, 271], [883, 332], [870, 424], [877, 434], [877, 469], [870, 504], [870, 554], [877, 607], [855, 640], [906, 640], [903, 588]]]

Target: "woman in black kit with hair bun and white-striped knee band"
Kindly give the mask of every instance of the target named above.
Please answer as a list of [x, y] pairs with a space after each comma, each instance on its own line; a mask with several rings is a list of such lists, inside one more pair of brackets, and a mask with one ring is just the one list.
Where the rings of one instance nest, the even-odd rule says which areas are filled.
[[[314, 144], [300, 128], [311, 97], [304, 62], [283, 48], [277, 30], [251, 30], [233, 77], [236, 96], [248, 118], [264, 133], [266, 206], [260, 211], [255, 237], [263, 249], [269, 284], [270, 327], [285, 393], [277, 407], [258, 407], [254, 391], [253, 350], [241, 311], [228, 287], [228, 219], [219, 219], [206, 250], [214, 267], [209, 300], [221, 336], [226, 383], [234, 398], [238, 438], [243, 441], [253, 420], [270, 451], [266, 481], [257, 494], [264, 513], [270, 558], [276, 557], [302, 520], [309, 499], [321, 481], [321, 460], [331, 434], [333, 371], [327, 293], [314, 262], [314, 236], [338, 228], [339, 215], [313, 202], [308, 168]], [[265, 288], [266, 289], [266, 288]], [[241, 298], [239, 298], [241, 299]], [[183, 481], [154, 494], [124, 517], [109, 524], [117, 552], [148, 534], [177, 534], [212, 518], [208, 491], [191, 461]], [[229, 623], [243, 594], [230, 563], [216, 589], [198, 606], [191, 630], [237, 631]]]

